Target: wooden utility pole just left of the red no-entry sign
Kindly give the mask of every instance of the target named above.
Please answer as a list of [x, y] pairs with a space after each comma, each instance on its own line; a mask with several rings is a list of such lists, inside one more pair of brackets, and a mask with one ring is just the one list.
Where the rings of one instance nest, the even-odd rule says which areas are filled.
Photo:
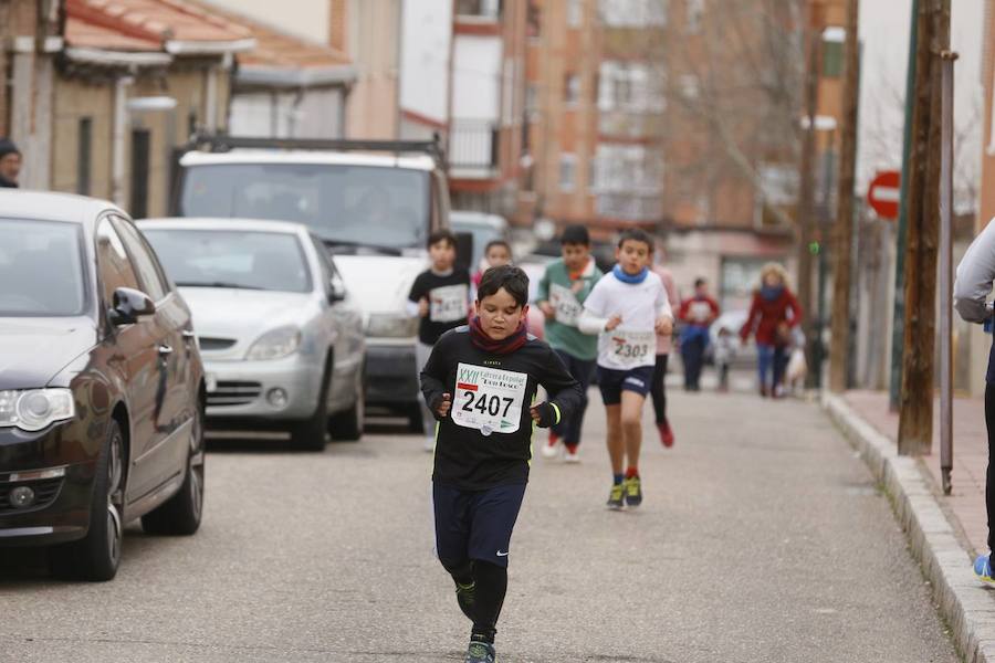
[[857, 165], [857, 103], [860, 73], [860, 34], [857, 32], [859, 10], [859, 0], [847, 1], [839, 203], [832, 266], [832, 346], [829, 348], [829, 389], [836, 393], [847, 389], [849, 365], [847, 354], [850, 345], [850, 254], [853, 245], [853, 180]]

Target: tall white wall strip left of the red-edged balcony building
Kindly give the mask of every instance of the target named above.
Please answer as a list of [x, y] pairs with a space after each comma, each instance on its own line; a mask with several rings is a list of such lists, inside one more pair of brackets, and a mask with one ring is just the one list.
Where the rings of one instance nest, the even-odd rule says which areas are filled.
[[452, 0], [405, 0], [400, 106], [433, 122], [449, 119]]

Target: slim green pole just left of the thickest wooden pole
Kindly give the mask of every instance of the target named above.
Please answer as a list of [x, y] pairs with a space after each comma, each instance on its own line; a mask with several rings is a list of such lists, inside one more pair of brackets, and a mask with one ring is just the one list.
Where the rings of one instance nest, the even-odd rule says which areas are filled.
[[899, 220], [896, 229], [894, 303], [891, 314], [891, 380], [888, 403], [898, 412], [902, 393], [902, 347], [905, 340], [905, 241], [909, 234], [909, 161], [912, 155], [912, 112], [915, 108], [915, 55], [919, 52], [919, 3], [912, 0], [912, 25], [909, 28], [909, 64], [905, 71], [905, 129], [902, 141], [902, 180]]

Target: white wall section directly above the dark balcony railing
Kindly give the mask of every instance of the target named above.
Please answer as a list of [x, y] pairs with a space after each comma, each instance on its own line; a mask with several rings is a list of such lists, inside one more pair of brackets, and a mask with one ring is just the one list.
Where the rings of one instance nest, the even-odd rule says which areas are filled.
[[459, 35], [453, 45], [452, 116], [496, 122], [501, 114], [501, 55], [498, 36]]

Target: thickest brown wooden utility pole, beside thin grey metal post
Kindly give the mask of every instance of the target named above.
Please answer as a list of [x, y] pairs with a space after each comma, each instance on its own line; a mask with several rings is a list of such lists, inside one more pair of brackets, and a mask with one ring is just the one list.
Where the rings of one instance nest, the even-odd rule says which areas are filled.
[[950, 0], [922, 0], [921, 4], [909, 164], [905, 326], [898, 435], [902, 455], [926, 454], [932, 445], [942, 144], [940, 57], [950, 50]]

